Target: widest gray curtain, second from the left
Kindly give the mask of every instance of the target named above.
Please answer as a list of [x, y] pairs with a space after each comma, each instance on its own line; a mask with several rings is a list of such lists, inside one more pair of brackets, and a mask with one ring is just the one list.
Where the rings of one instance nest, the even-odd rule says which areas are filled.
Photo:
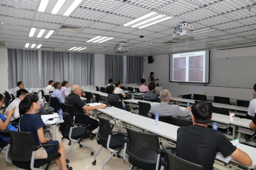
[[44, 86], [48, 81], [69, 81], [70, 85], [94, 85], [94, 54], [41, 51]]

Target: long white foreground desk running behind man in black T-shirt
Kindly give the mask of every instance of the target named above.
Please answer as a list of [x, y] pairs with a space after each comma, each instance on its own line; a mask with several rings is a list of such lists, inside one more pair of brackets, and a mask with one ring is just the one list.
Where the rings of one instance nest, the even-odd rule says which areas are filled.
[[[115, 107], [98, 108], [97, 111], [99, 111], [100, 113], [106, 114], [109, 117], [120, 120], [122, 122], [126, 122], [127, 124], [136, 126], [137, 128], [144, 129], [145, 131], [148, 131], [151, 133], [155, 133], [163, 138], [172, 140], [173, 142], [176, 142], [177, 140], [177, 129], [179, 128], [179, 126], [166, 124], [165, 122], [161, 122], [161, 121], [159, 121], [159, 125], [156, 126], [154, 124], [155, 121], [152, 120], [151, 118], [143, 117], [137, 114], [132, 114], [129, 111], [120, 110], [119, 108], [115, 108]], [[214, 116], [218, 117], [216, 115]], [[240, 121], [241, 124], [242, 122], [243, 121]], [[237, 122], [237, 125], [239, 125], [239, 122]], [[253, 160], [253, 165], [247, 168], [252, 168], [252, 169], [256, 168], [256, 154], [255, 154], [256, 148], [240, 143], [239, 149], [245, 151], [248, 155], [250, 155], [251, 159]], [[232, 160], [231, 162], [239, 164], [234, 160]]]

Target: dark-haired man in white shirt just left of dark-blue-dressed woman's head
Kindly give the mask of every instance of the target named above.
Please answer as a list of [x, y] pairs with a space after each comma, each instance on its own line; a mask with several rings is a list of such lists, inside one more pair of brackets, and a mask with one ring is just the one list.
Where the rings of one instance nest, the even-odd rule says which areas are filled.
[[8, 117], [8, 111], [16, 107], [13, 116], [10, 118], [10, 121], [19, 122], [20, 120], [19, 104], [20, 104], [20, 101], [22, 101], [28, 93], [29, 92], [26, 89], [19, 89], [19, 91], [17, 91], [17, 98], [13, 100], [12, 103], [10, 103], [9, 106], [6, 108], [5, 116]]

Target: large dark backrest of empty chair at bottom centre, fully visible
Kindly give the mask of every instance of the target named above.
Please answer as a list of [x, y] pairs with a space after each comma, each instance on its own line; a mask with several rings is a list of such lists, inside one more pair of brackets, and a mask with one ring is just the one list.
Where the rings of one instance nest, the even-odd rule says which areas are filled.
[[159, 140], [156, 134], [143, 133], [133, 131], [126, 128], [127, 143], [126, 154], [129, 158], [144, 163], [156, 164], [157, 163], [157, 149], [159, 149]]

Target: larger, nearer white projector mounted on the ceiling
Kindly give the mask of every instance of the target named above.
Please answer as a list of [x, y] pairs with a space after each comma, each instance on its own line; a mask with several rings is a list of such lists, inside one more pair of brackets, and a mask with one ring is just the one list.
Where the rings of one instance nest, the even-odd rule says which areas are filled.
[[193, 25], [183, 21], [179, 23], [177, 27], [175, 27], [172, 37], [173, 39], [183, 39], [183, 38], [191, 38], [194, 37], [194, 32], [192, 31]]

